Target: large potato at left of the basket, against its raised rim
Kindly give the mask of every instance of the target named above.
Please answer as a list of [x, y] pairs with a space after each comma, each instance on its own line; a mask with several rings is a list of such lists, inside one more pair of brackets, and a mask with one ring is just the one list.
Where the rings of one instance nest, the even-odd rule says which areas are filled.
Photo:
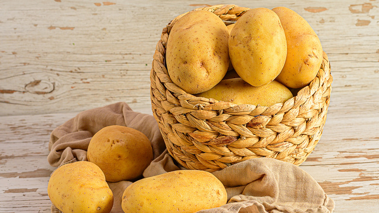
[[219, 83], [229, 66], [228, 36], [221, 18], [209, 11], [192, 11], [179, 18], [166, 47], [172, 82], [190, 94]]

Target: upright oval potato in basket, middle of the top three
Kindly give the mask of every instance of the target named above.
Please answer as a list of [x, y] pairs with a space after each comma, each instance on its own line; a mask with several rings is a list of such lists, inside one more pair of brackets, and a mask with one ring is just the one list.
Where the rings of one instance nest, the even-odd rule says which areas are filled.
[[252, 86], [274, 80], [287, 55], [286, 36], [277, 15], [267, 8], [243, 14], [230, 32], [229, 55], [234, 70]]

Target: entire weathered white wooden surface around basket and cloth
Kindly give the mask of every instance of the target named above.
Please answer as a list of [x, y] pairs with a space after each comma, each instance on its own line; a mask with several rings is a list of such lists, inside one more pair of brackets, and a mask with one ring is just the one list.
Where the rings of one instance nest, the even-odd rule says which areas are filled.
[[[379, 0], [235, 0], [286, 6], [309, 21], [333, 76], [323, 136], [300, 167], [335, 213], [379, 212]], [[2, 0], [0, 212], [50, 212], [51, 131], [79, 111], [124, 101], [152, 114], [162, 28], [203, 6], [179, 0]], [[220, 1], [208, 0], [209, 5]]]

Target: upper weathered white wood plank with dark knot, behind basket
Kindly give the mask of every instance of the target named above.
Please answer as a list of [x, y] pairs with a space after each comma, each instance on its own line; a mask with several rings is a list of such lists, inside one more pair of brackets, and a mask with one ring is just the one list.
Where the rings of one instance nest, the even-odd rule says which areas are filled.
[[[233, 3], [292, 8], [320, 36], [332, 64], [333, 88], [344, 92], [338, 96], [378, 98], [378, 92], [351, 94], [379, 89], [373, 81], [379, 79], [378, 1]], [[162, 28], [200, 6], [167, 0], [3, 1], [0, 115], [69, 112], [118, 101], [150, 108], [149, 74]]]

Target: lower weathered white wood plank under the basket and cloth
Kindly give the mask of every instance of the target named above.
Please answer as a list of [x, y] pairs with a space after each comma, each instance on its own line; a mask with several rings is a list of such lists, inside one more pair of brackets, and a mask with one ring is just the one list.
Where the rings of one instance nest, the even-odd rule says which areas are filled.
[[[8, 139], [0, 141], [2, 147], [7, 147], [0, 150], [0, 212], [50, 211], [47, 183], [55, 168], [47, 162], [49, 135], [75, 115], [0, 117], [0, 135]], [[367, 212], [375, 212], [379, 202], [379, 136], [373, 133], [372, 125], [375, 118], [363, 118], [355, 123], [356, 128], [352, 120], [348, 116], [328, 118], [321, 141], [300, 167], [335, 200], [336, 213], [357, 212], [362, 205], [368, 205]], [[341, 124], [351, 131], [343, 134], [335, 128]], [[364, 131], [367, 134], [360, 134]]]

